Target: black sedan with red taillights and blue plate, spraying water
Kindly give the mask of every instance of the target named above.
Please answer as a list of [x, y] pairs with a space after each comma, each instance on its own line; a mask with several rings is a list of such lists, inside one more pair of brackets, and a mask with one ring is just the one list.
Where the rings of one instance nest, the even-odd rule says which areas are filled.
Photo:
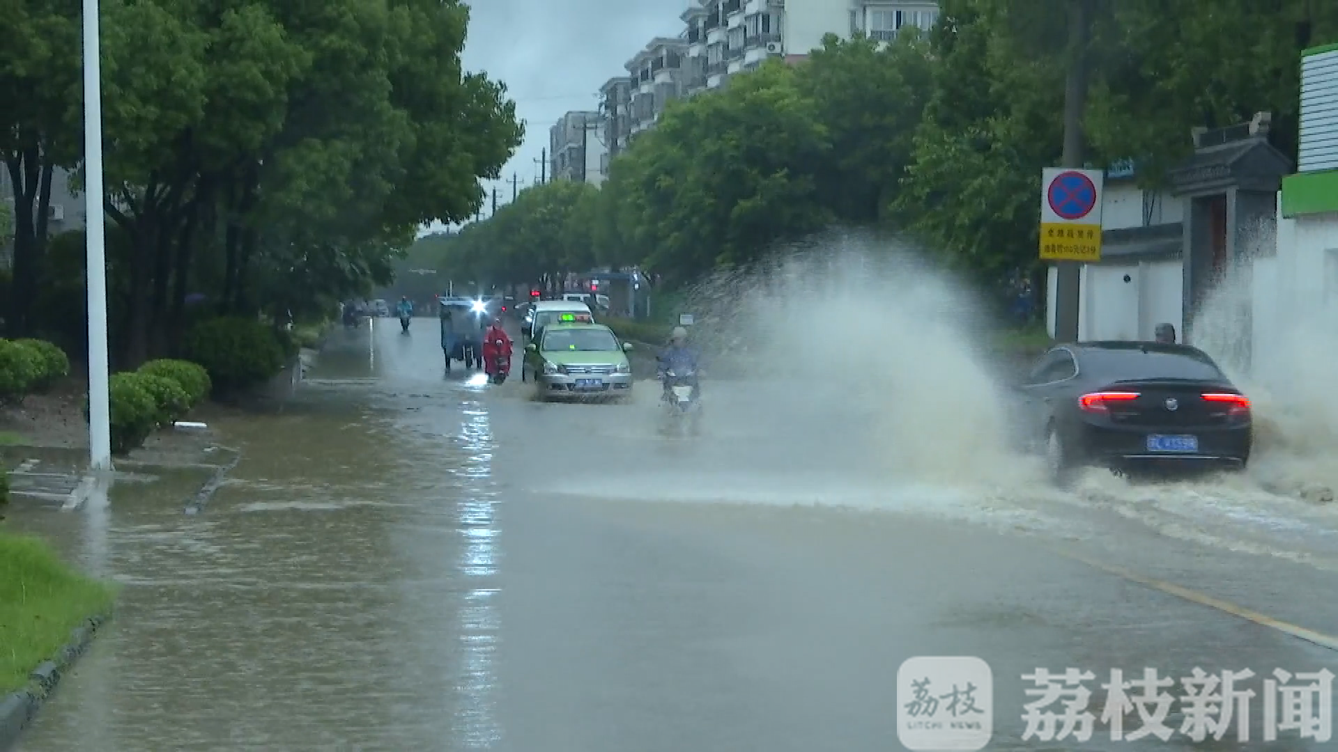
[[1085, 466], [1240, 470], [1250, 460], [1250, 399], [1198, 348], [1057, 345], [1020, 391], [1024, 430], [1061, 486]]

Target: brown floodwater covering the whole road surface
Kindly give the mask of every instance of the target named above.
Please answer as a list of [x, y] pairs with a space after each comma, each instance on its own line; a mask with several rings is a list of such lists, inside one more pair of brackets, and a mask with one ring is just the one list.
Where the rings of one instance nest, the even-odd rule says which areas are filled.
[[1252, 669], [1259, 694], [1275, 668], [1338, 672], [1072, 558], [1333, 634], [1329, 510], [909, 484], [839, 385], [708, 381], [690, 443], [656, 434], [654, 384], [630, 405], [527, 387], [444, 376], [432, 320], [339, 331], [282, 413], [218, 426], [244, 459], [201, 514], [162, 482], [16, 510], [123, 583], [21, 749], [898, 749], [913, 656], [990, 664], [990, 749], [1077, 748], [1022, 739], [1024, 673], [1094, 672], [1100, 716], [1111, 669]]

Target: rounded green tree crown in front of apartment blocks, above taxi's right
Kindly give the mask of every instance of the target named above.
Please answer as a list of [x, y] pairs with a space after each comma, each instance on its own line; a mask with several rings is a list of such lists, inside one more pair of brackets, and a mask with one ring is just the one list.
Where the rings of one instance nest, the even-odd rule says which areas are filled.
[[670, 281], [748, 264], [830, 221], [816, 178], [830, 154], [793, 70], [768, 62], [721, 92], [674, 103], [632, 145], [618, 181], [624, 226], [645, 229], [634, 244]]

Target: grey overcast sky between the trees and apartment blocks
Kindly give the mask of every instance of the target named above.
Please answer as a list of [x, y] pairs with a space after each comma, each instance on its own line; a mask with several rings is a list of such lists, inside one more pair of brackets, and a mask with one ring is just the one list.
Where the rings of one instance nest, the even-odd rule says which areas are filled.
[[653, 37], [677, 36], [678, 16], [686, 8], [688, 0], [471, 3], [464, 67], [506, 83], [516, 116], [526, 123], [524, 143], [496, 183], [499, 206], [511, 201], [512, 175], [522, 189], [538, 179], [537, 161], [558, 118], [571, 110], [597, 110], [599, 87], [628, 75], [626, 62]]

